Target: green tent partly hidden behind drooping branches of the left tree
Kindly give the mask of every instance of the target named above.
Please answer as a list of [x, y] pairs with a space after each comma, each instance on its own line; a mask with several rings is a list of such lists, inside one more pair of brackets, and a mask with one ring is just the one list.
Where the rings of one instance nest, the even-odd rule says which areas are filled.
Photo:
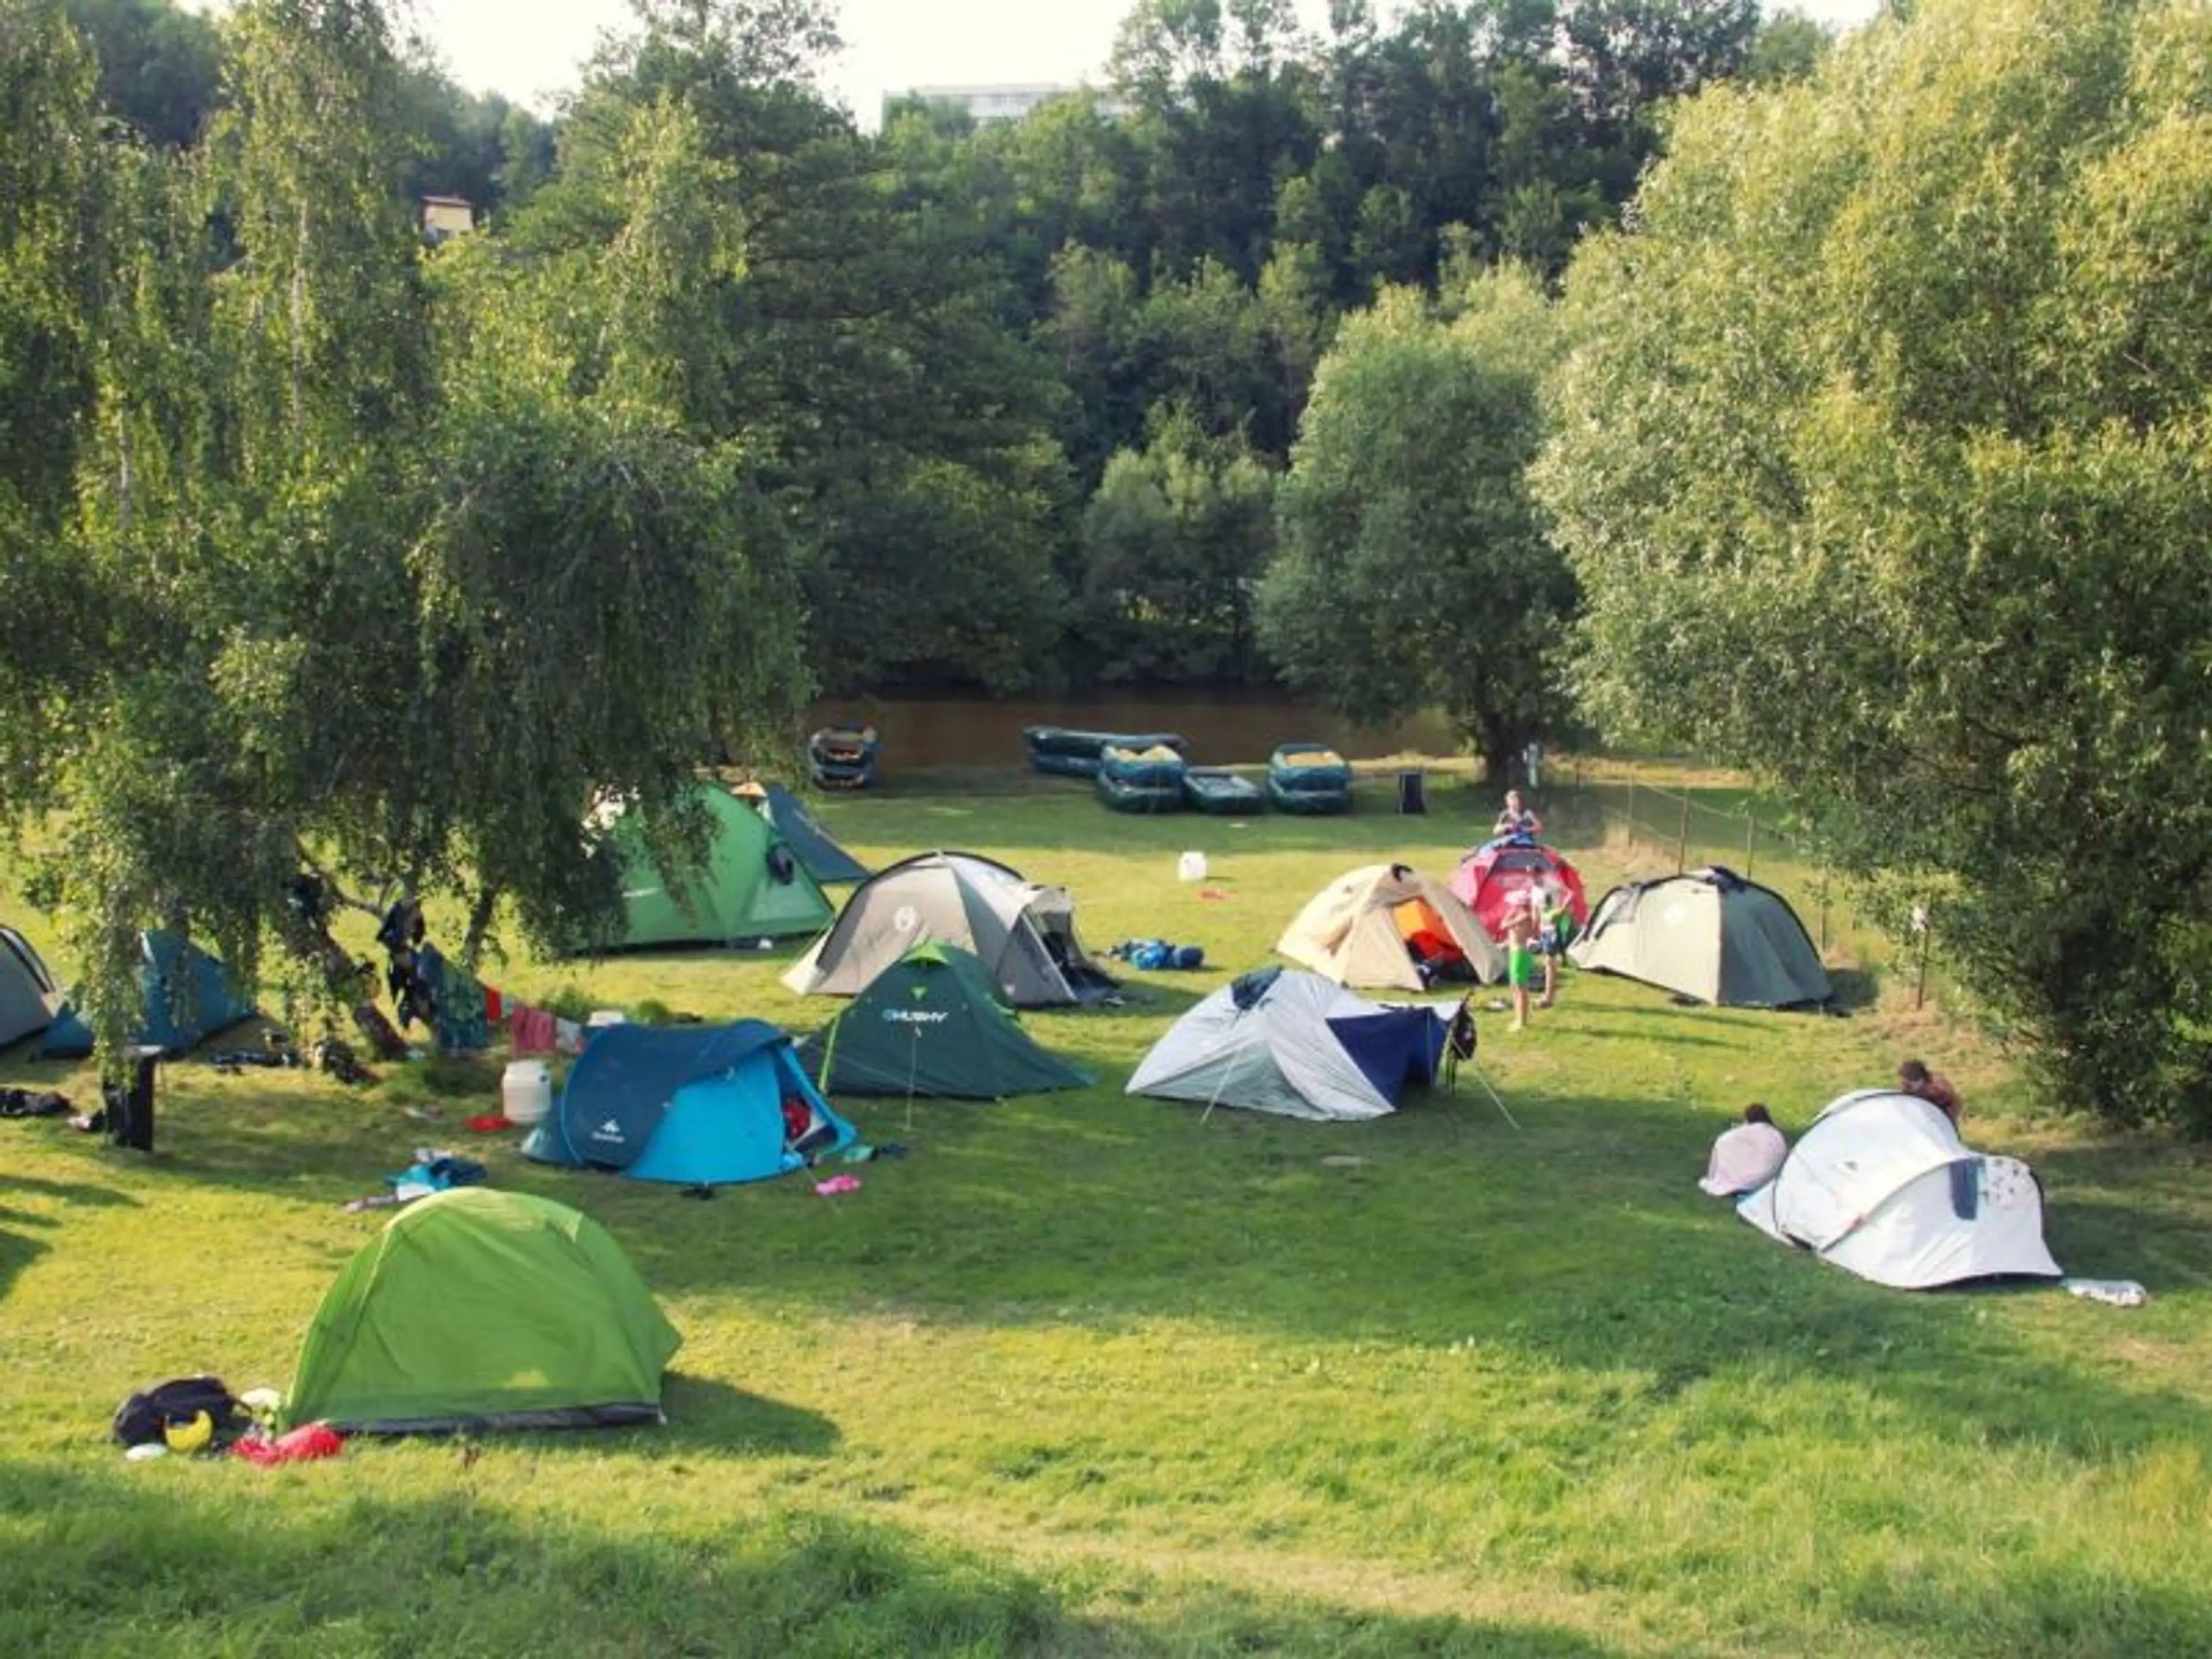
[[615, 818], [622, 933], [608, 940], [613, 949], [737, 945], [830, 927], [836, 907], [768, 818], [719, 785], [699, 799], [714, 827], [706, 867], [688, 883], [670, 880], [646, 836]]

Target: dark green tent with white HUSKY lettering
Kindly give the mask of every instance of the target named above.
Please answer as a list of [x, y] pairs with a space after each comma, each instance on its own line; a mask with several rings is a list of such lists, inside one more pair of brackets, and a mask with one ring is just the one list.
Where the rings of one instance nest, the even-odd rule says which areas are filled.
[[1004, 1099], [1091, 1084], [1029, 1040], [958, 945], [916, 945], [799, 1046], [823, 1093]]

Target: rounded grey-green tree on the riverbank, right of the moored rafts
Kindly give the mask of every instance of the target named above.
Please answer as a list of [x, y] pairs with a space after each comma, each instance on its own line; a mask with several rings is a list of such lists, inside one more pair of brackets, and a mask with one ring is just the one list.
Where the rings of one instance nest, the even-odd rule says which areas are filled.
[[1502, 776], [1566, 708], [1575, 582], [1524, 478], [1562, 334], [1515, 268], [1453, 310], [1394, 288], [1345, 321], [1279, 491], [1259, 628], [1303, 695], [1363, 723], [1440, 708]]

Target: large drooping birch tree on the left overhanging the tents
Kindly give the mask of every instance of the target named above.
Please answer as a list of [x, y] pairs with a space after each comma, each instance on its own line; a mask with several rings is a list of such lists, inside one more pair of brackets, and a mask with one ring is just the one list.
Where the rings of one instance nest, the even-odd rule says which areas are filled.
[[181, 920], [248, 973], [274, 938], [389, 1048], [341, 896], [507, 891], [540, 936], [611, 914], [586, 807], [644, 799], [684, 838], [710, 743], [803, 695], [796, 582], [666, 361], [712, 181], [679, 119], [557, 292], [489, 241], [427, 281], [376, 4], [230, 29], [223, 119], [133, 175], [102, 319], [73, 540], [106, 670], [64, 706], [60, 900], [108, 1044], [135, 929]]

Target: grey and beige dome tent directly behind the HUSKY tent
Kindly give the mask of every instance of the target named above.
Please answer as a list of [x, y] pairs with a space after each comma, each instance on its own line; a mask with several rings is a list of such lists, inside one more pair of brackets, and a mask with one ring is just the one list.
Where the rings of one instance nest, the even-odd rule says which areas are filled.
[[783, 982], [801, 995], [858, 995], [931, 940], [971, 951], [1015, 1009], [1095, 1002], [1115, 987], [1075, 933], [1066, 887], [971, 852], [925, 852], [865, 880]]

